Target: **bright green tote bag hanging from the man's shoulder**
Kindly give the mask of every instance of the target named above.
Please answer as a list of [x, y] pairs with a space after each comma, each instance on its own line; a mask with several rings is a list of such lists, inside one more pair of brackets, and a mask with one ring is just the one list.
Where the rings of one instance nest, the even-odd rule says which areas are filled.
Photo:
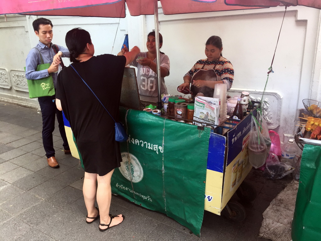
[[[37, 48], [34, 48], [37, 49]], [[40, 54], [41, 64], [37, 65], [36, 71], [48, 69], [50, 64], [44, 64], [42, 55], [37, 49]], [[26, 67], [24, 67], [26, 71]], [[43, 96], [53, 96], [55, 94], [54, 82], [52, 80], [52, 76], [49, 75], [48, 77], [44, 77], [41, 79], [27, 79], [28, 89], [29, 89], [29, 98], [37, 98]]]

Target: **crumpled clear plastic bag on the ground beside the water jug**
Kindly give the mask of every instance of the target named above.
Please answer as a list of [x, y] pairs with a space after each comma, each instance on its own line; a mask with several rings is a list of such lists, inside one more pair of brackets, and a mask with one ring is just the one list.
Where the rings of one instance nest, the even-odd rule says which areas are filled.
[[266, 169], [264, 170], [263, 175], [269, 179], [281, 179], [294, 171], [294, 167], [280, 162], [279, 158], [274, 153], [269, 154], [265, 166]]

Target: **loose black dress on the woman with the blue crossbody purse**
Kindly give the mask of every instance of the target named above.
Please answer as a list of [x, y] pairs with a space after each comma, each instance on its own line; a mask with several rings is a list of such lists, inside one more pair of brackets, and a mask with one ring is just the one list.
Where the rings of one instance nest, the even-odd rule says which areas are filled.
[[[104, 54], [73, 63], [108, 112], [118, 121], [125, 56]], [[58, 75], [56, 98], [74, 133], [85, 172], [103, 176], [120, 166], [114, 121], [72, 67]]]

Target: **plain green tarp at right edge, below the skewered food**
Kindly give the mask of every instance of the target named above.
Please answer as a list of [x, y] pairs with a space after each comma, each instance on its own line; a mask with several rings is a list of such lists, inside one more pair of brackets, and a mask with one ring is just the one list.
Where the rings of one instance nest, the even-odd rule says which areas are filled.
[[321, 147], [304, 145], [292, 221], [293, 241], [321, 240]]

